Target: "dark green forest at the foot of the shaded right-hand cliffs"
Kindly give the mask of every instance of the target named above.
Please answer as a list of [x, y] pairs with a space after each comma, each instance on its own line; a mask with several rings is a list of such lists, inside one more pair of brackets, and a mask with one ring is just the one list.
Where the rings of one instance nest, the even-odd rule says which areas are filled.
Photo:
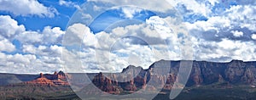
[[[170, 92], [164, 90], [163, 92]], [[169, 93], [159, 94], [154, 100], [168, 100]], [[199, 86], [186, 87], [175, 100], [255, 100], [256, 88], [250, 86]]]

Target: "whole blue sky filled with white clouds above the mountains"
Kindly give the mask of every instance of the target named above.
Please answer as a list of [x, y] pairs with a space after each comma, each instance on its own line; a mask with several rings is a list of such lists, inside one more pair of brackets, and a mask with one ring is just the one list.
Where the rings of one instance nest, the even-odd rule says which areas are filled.
[[254, 0], [0, 0], [0, 73], [256, 59]]

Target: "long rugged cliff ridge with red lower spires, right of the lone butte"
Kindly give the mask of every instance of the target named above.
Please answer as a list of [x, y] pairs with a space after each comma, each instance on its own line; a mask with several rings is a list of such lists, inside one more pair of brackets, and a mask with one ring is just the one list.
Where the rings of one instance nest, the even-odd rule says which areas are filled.
[[[92, 83], [104, 92], [114, 93], [134, 92], [139, 89], [172, 89], [179, 68], [180, 61], [168, 60], [155, 62], [148, 69], [130, 65], [123, 69], [120, 74], [112, 74], [112, 78], [100, 73], [95, 76]], [[193, 61], [186, 86], [202, 86], [220, 82], [234, 85], [255, 85], [255, 76], [256, 62], [243, 62], [241, 60], [232, 60], [228, 63]]]

